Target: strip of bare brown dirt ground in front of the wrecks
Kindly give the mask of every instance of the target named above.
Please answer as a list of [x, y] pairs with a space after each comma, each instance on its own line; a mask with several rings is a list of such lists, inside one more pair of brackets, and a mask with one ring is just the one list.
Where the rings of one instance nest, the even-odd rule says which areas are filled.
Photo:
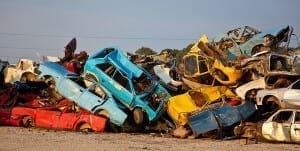
[[79, 133], [38, 128], [0, 126], [0, 151], [96, 150], [272, 150], [299, 151], [298, 144], [249, 142], [239, 139], [178, 139], [163, 134]]

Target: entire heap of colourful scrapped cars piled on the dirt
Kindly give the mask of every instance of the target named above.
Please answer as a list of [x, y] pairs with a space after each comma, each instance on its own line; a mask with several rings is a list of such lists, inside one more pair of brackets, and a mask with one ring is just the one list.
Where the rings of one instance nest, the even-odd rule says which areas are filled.
[[74, 54], [72, 39], [57, 62], [5, 64], [0, 124], [300, 142], [292, 33], [291, 26], [244, 26], [212, 40], [204, 35], [179, 62], [170, 52], [142, 56], [117, 47]]

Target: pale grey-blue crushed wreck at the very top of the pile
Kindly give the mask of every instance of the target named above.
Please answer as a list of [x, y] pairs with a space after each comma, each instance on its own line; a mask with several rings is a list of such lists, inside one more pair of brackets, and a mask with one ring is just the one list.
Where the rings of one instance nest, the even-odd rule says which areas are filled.
[[213, 42], [227, 54], [228, 60], [234, 60], [241, 55], [252, 56], [261, 51], [288, 46], [292, 32], [293, 28], [289, 25], [265, 31], [244, 26], [218, 35]]

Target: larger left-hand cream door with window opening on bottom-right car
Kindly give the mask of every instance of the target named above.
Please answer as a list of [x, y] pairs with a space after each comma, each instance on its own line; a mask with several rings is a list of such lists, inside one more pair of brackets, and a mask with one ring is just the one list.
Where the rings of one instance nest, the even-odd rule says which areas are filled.
[[273, 141], [289, 142], [293, 114], [293, 111], [280, 111], [271, 116], [263, 124], [263, 137]]

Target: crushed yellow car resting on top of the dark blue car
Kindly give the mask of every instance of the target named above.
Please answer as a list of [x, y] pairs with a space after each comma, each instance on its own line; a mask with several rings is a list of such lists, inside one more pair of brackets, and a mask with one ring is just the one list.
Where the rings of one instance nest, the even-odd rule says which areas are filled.
[[205, 86], [171, 97], [167, 103], [167, 112], [177, 125], [184, 126], [192, 112], [222, 99], [235, 97], [237, 96], [225, 86]]

